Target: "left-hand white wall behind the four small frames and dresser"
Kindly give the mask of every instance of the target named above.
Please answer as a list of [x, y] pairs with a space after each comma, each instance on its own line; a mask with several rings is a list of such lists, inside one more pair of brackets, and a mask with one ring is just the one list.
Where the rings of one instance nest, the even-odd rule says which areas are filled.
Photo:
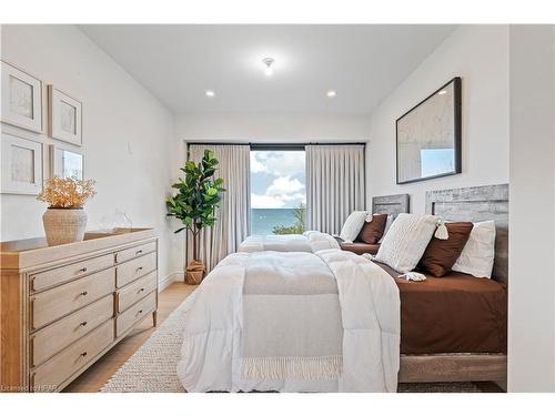
[[[1, 31], [2, 60], [83, 103], [85, 176], [97, 181], [98, 191], [85, 205], [88, 229], [98, 229], [114, 209], [125, 211], [133, 226], [154, 227], [160, 236], [160, 278], [181, 270], [181, 236], [164, 215], [178, 163], [170, 111], [72, 26], [2, 26]], [[7, 124], [2, 130], [62, 144]], [[33, 196], [2, 195], [1, 240], [43, 235], [44, 210]]]

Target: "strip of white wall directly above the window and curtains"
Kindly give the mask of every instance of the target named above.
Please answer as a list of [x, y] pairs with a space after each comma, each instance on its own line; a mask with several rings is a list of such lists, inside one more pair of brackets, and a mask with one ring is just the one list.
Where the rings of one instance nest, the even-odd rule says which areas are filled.
[[367, 141], [369, 119], [362, 114], [181, 114], [175, 131], [185, 141]]

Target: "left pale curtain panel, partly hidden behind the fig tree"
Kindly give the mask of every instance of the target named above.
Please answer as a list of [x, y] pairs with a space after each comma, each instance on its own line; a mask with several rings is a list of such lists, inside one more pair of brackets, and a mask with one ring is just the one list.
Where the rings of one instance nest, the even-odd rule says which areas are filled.
[[[189, 146], [189, 160], [199, 163], [204, 150], [214, 152], [220, 162], [215, 177], [223, 179], [225, 192], [222, 195], [220, 207], [213, 227], [204, 229], [200, 233], [200, 260], [208, 271], [211, 271], [223, 257], [238, 251], [239, 244], [249, 235], [250, 221], [250, 146], [233, 145], [202, 145]], [[188, 233], [188, 262], [193, 258], [193, 244]]]

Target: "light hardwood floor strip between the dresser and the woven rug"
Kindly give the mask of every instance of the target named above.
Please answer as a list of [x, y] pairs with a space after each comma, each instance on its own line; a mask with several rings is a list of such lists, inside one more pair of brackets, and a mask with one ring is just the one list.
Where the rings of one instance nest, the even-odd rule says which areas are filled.
[[[196, 286], [174, 282], [159, 294], [158, 325], [189, 296]], [[94, 393], [125, 363], [154, 332], [152, 318], [145, 318], [131, 334], [109, 351], [83, 374], [69, 384], [63, 393]]]

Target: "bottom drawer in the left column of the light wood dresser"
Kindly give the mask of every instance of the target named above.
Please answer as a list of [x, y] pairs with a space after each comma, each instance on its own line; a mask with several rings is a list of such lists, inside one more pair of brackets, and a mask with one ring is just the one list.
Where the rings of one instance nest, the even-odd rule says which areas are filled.
[[37, 367], [33, 390], [56, 390], [73, 373], [89, 364], [113, 342], [113, 319], [108, 321], [60, 354]]

